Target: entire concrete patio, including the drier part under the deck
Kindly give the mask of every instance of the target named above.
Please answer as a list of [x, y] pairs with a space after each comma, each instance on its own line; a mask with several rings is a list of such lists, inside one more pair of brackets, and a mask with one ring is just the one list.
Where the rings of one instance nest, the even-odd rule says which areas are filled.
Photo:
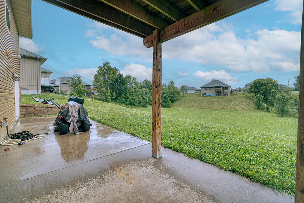
[[[32, 121], [29, 128], [33, 129], [33, 126], [36, 126], [35, 129], [45, 130], [39, 122], [34, 122], [35, 119], [21, 120], [20, 124]], [[45, 122], [52, 121], [50, 118], [43, 119]], [[251, 182], [244, 177], [191, 159], [171, 149], [162, 148], [160, 159], [151, 158], [151, 143], [113, 128], [112, 133], [104, 133], [103, 136], [108, 137], [102, 139], [100, 135], [102, 131], [98, 129], [104, 126], [95, 122], [94, 125], [96, 129], [92, 128], [89, 138], [85, 136], [80, 138], [81, 133], [78, 138], [75, 135], [60, 136], [55, 133], [53, 138], [49, 135], [47, 139], [29, 142], [26, 149], [21, 148], [26, 145], [15, 147], [12, 151], [10, 149], [6, 151], [8, 153], [5, 156], [2, 156], [6, 152], [1, 147], [1, 165], [7, 166], [0, 166], [1, 181], [4, 178], [11, 183], [0, 186], [0, 202], [291, 203], [294, 201], [293, 196], [284, 192]], [[20, 127], [18, 129], [13, 128], [15, 131], [20, 131]], [[121, 138], [115, 138], [116, 136]], [[116, 140], [115, 144], [113, 143], [116, 149], [104, 146], [107, 138], [112, 142]], [[98, 143], [91, 143], [93, 140]], [[83, 149], [82, 151], [75, 149], [78, 145], [81, 145], [79, 147]], [[126, 146], [121, 145], [130, 147], [126, 149], [124, 148]], [[91, 147], [94, 146], [99, 147], [93, 148], [93, 152], [90, 152]], [[108, 154], [101, 149], [108, 149]], [[99, 150], [98, 154], [94, 152], [95, 150]], [[30, 155], [29, 158], [25, 153], [20, 155], [21, 152], [29, 151], [33, 151], [34, 155]], [[107, 155], [101, 156], [102, 154]], [[99, 158], [94, 158], [98, 155]], [[9, 163], [11, 160], [14, 163]], [[26, 160], [31, 164], [25, 163]], [[16, 177], [21, 178], [17, 181]]]

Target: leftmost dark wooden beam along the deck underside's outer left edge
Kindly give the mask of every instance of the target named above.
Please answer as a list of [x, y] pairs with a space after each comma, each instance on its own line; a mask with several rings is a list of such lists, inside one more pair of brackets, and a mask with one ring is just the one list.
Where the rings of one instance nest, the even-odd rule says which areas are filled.
[[43, 0], [60, 8], [77, 13], [119, 30], [146, 37], [153, 33], [154, 27], [134, 19], [116, 9], [96, 0]]

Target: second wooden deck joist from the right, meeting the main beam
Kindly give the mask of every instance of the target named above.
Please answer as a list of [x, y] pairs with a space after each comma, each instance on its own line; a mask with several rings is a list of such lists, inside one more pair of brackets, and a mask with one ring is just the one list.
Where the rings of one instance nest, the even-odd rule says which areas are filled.
[[169, 0], [142, 0], [154, 9], [168, 16], [172, 20], [179, 21], [186, 17], [186, 15], [174, 3]]

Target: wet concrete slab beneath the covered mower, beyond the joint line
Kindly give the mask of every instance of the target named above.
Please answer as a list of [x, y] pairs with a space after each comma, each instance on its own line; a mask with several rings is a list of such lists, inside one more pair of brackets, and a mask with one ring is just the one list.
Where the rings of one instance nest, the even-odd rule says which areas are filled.
[[0, 145], [0, 186], [149, 143], [95, 121], [88, 132], [59, 135], [53, 131], [54, 121], [55, 117], [28, 117], [12, 128], [10, 134], [32, 130], [49, 135], [20, 146]]

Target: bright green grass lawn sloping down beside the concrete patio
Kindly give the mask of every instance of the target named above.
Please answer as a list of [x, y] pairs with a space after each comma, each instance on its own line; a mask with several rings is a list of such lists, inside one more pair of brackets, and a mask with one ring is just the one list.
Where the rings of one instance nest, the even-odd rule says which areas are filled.
[[[54, 97], [60, 104], [67, 101]], [[22, 95], [21, 103], [33, 99]], [[88, 97], [84, 107], [91, 119], [151, 141], [151, 108], [126, 108]], [[161, 119], [164, 147], [294, 194], [297, 119], [180, 107], [162, 109]]]

